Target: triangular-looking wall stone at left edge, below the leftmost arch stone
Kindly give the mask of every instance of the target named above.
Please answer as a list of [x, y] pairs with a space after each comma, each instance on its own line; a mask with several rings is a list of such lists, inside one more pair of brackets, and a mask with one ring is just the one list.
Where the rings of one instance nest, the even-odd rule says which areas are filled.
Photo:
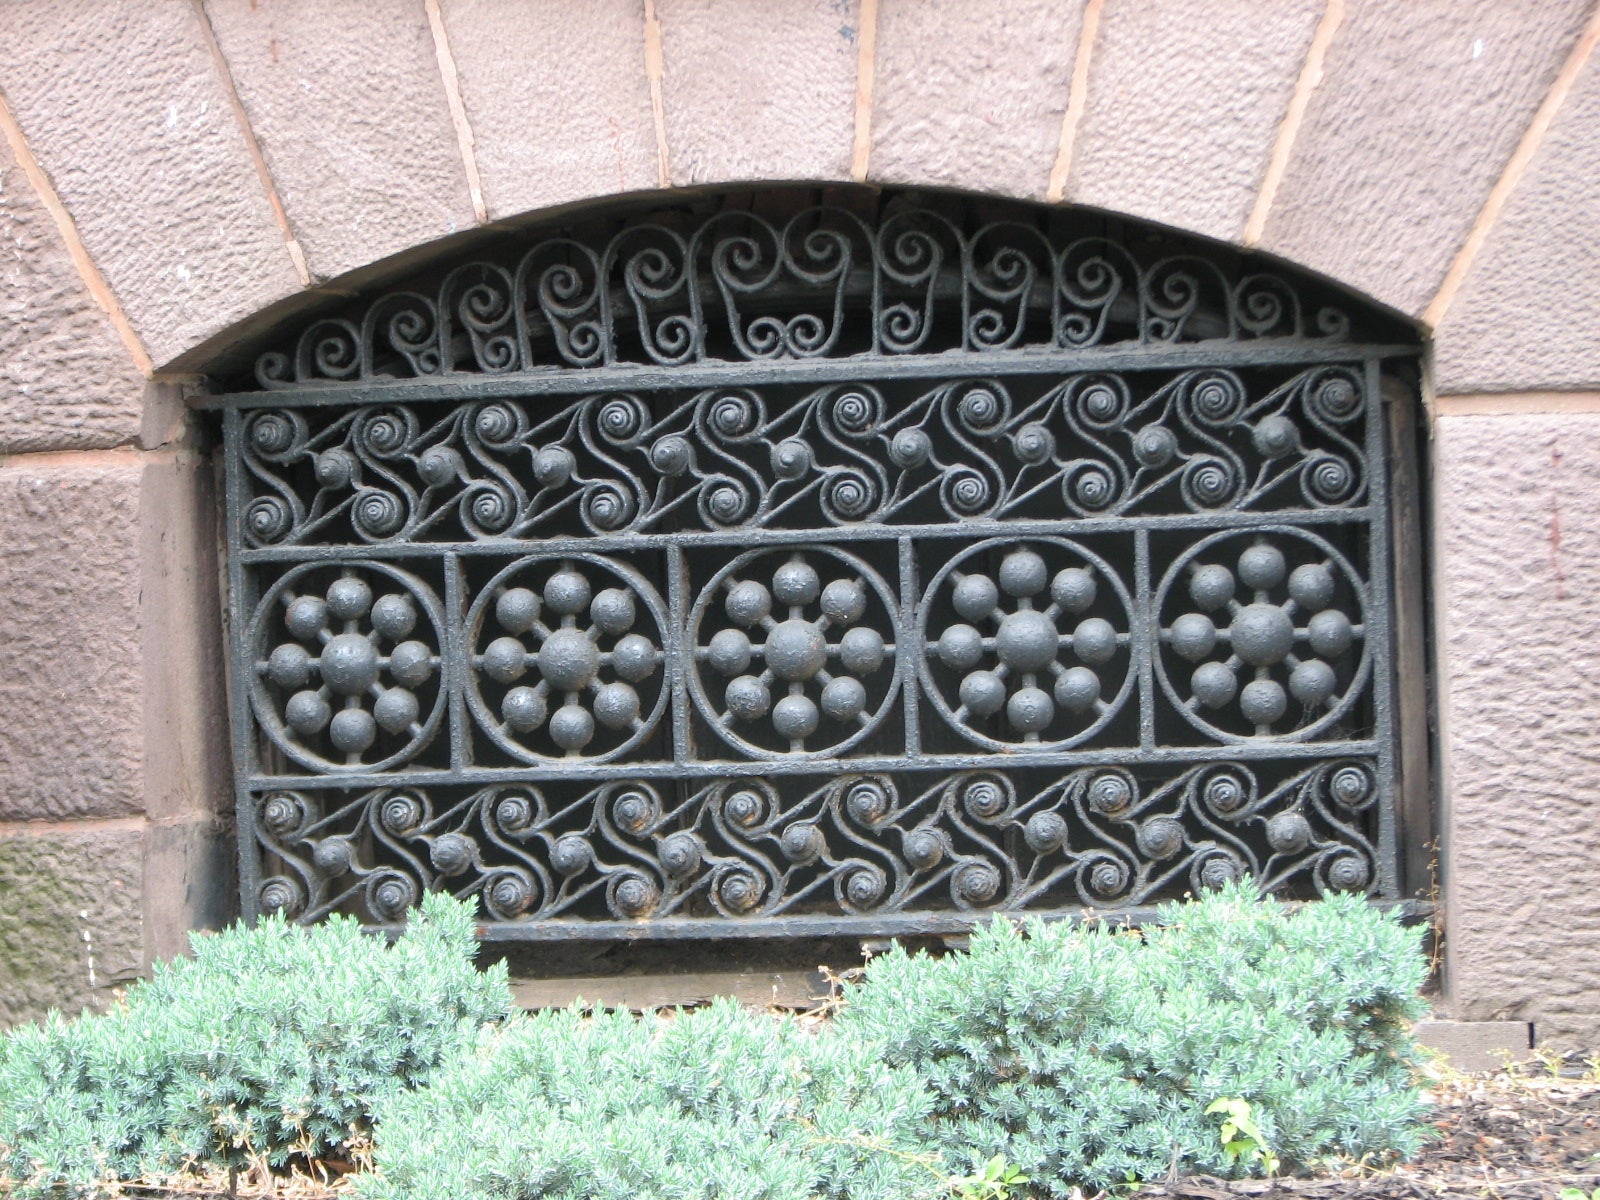
[[115, 446], [144, 379], [0, 141], [0, 454]]

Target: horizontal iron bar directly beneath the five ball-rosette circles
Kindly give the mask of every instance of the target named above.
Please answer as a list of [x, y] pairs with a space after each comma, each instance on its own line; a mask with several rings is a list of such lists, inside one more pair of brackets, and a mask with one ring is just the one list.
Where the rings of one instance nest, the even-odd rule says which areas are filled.
[[864, 758], [830, 758], [819, 754], [814, 758], [755, 758], [749, 762], [718, 762], [704, 758], [693, 763], [672, 762], [616, 762], [589, 763], [571, 758], [552, 758], [538, 766], [467, 766], [462, 770], [418, 771], [330, 771], [326, 774], [246, 774], [245, 787], [253, 792], [296, 792], [328, 789], [373, 787], [437, 787], [459, 784], [478, 787], [486, 784], [566, 782], [590, 786], [610, 779], [643, 781], [704, 781], [750, 779], [762, 776], [819, 776], [842, 774], [893, 774], [906, 771], [995, 771], [1061, 766], [1155, 766], [1162, 763], [1211, 763], [1211, 762], [1282, 762], [1285, 758], [1347, 758], [1376, 754], [1374, 739], [1360, 741], [1309, 741], [1290, 742], [1269, 738], [1261, 742], [1240, 741], [1216, 746], [1157, 746], [1141, 750], [1136, 746], [1085, 750], [1032, 750], [1018, 746], [1013, 750], [970, 750], [963, 754], [923, 755], [874, 755]]

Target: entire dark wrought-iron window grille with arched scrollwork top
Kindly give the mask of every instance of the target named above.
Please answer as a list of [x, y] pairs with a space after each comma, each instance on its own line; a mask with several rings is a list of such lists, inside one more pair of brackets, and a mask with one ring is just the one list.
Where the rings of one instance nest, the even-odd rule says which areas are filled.
[[1379, 382], [1416, 347], [1090, 221], [621, 221], [259, 355], [213, 402], [246, 912], [1400, 896]]

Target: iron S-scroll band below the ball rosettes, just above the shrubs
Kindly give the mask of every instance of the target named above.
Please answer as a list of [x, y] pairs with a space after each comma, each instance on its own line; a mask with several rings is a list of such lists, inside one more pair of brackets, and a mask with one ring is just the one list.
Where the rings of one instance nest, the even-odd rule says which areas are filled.
[[[816, 910], [870, 917], [1088, 906], [1117, 909], [1254, 877], [1267, 890], [1365, 890], [1360, 834], [1378, 795], [1350, 758], [1269, 778], [1250, 763], [1150, 786], [1117, 768], [1051, 776], [963, 771], [906, 790], [890, 774], [712, 779], [674, 797], [650, 782], [589, 790], [490, 786], [435, 805], [376, 789], [334, 808], [262, 798], [283, 872], [264, 902], [315, 918], [360, 898], [394, 922], [430, 888], [480, 894], [502, 922]], [[437, 810], [437, 811], [435, 811]]]

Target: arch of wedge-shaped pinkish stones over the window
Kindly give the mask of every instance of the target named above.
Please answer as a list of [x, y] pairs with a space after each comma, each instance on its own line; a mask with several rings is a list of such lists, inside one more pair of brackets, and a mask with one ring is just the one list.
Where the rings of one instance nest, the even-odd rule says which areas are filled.
[[[1262, 246], [1434, 323], [1462, 285], [1453, 262], [1470, 266], [1501, 211], [1496, 181], [1520, 178], [1541, 104], [1579, 83], [1589, 45], [1578, 0], [1427, 19], [1309, 3], [1205, 22], [1168, 5], [1006, 0], [976, 19], [829, 0], [744, 8], [736, 40], [722, 16], [701, 0], [27, 13], [5, 43], [8, 141], [62, 203], [134, 357], [176, 371], [237, 320], [451, 230], [738, 181], [1102, 205]], [[122, 72], [128, 54], [160, 77]], [[77, 82], [110, 77], [125, 86], [98, 122], [74, 123]], [[144, 186], [115, 182], [130, 178]], [[1530, 219], [1518, 229], [1536, 235]], [[1504, 341], [1483, 286], [1466, 285], [1464, 320]], [[1502, 366], [1467, 358], [1446, 370], [1451, 389], [1506, 386]]]

